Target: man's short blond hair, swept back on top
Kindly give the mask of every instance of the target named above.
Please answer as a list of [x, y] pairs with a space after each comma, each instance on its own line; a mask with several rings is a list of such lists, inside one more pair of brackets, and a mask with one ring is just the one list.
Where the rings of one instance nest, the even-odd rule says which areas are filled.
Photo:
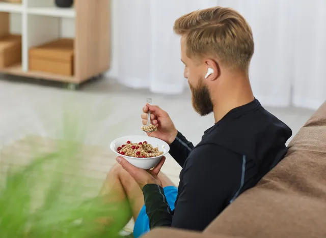
[[186, 14], [174, 23], [185, 37], [187, 56], [217, 57], [231, 68], [248, 70], [254, 54], [250, 25], [231, 8], [214, 7]]

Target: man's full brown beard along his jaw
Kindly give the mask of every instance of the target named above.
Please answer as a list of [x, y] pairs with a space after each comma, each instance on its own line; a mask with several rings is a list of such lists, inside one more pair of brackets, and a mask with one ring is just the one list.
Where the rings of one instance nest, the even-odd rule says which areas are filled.
[[192, 91], [192, 104], [195, 111], [201, 116], [208, 115], [213, 111], [213, 103], [206, 85], [203, 85], [203, 79], [200, 79], [197, 88], [192, 86], [189, 81], [189, 87]]

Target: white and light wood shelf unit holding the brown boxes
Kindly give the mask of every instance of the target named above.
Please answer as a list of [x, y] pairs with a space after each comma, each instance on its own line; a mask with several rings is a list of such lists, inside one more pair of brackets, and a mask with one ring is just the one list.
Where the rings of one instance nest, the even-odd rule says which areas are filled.
[[[110, 0], [75, 0], [69, 9], [58, 8], [54, 2], [0, 2], [0, 37], [11, 33], [12, 14], [20, 15], [21, 25], [16, 28], [22, 35], [21, 64], [0, 69], [0, 73], [79, 84], [110, 69]], [[74, 21], [74, 75], [29, 71], [29, 49], [62, 38], [62, 19]]]

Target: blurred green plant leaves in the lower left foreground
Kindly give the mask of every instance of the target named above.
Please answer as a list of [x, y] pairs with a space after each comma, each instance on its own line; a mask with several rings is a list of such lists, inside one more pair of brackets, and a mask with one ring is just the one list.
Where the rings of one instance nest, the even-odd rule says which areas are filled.
[[74, 113], [63, 117], [63, 136], [51, 152], [41, 152], [40, 145], [31, 143], [30, 163], [22, 167], [0, 164], [8, 167], [1, 173], [1, 238], [119, 237], [125, 223], [125, 210], [120, 208], [127, 201], [83, 196], [98, 181], [84, 175], [78, 155], [86, 130], [85, 124], [78, 127], [72, 120]]

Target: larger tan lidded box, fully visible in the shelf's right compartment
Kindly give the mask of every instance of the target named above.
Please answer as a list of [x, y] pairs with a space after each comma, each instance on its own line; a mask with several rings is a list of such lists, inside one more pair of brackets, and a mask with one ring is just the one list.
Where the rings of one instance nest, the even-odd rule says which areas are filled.
[[73, 76], [74, 40], [59, 39], [31, 48], [29, 70]]

